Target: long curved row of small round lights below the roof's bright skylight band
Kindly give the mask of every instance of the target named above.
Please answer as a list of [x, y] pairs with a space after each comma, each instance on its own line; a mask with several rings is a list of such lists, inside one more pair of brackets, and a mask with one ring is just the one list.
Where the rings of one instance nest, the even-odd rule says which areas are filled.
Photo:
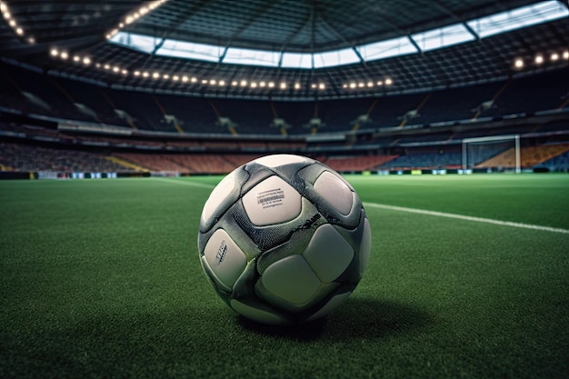
[[[94, 62], [93, 59], [88, 55], [74, 55], [66, 50], [58, 49], [53, 47], [50, 50], [50, 55], [55, 59], [61, 59], [63, 61], [73, 61], [76, 64], [82, 64], [85, 66], [95, 66], [95, 68], [108, 71], [110, 73], [114, 73], [117, 75], [132, 75], [136, 78], [143, 78], [143, 79], [153, 79], [153, 80], [168, 80], [172, 82], [179, 82], [191, 85], [210, 85], [210, 86], [232, 86], [232, 87], [248, 87], [248, 88], [278, 88], [281, 90], [288, 89], [292, 87], [296, 90], [302, 89], [303, 85], [299, 82], [295, 82], [294, 84], [289, 84], [287, 82], [275, 82], [271, 80], [232, 80], [231, 82], [225, 81], [223, 79], [200, 79], [196, 76], [192, 75], [184, 75], [184, 74], [168, 74], [162, 73], [160, 71], [151, 71], [151, 70], [127, 70], [124, 67], [119, 65], [112, 65], [110, 63], [102, 64], [99, 62]], [[344, 89], [362, 89], [362, 88], [373, 88], [376, 86], [382, 85], [392, 85], [393, 80], [391, 78], [384, 78], [377, 81], [367, 81], [367, 82], [350, 82], [348, 84], [342, 85]], [[325, 83], [312, 83], [310, 85], [311, 89], [314, 90], [325, 90], [326, 84]]]

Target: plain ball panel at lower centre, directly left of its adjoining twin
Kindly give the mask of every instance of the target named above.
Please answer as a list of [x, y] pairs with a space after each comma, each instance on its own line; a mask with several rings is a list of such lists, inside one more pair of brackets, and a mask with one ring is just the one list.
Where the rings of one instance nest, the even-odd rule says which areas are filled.
[[261, 277], [265, 288], [293, 304], [305, 304], [320, 288], [320, 280], [302, 255], [291, 255], [271, 264]]

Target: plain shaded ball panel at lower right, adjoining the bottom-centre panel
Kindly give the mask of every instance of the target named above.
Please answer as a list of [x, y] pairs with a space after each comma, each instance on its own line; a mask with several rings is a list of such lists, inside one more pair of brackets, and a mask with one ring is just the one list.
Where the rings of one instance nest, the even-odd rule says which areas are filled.
[[314, 231], [303, 254], [320, 280], [326, 283], [344, 273], [354, 258], [354, 249], [334, 226], [324, 224]]

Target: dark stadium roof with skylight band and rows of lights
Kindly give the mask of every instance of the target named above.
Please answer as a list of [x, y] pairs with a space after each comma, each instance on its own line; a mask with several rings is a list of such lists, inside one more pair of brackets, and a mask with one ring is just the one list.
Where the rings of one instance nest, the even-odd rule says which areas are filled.
[[[568, 10], [562, 1], [2, 4], [3, 58], [54, 75], [144, 91], [301, 100], [377, 96], [484, 83], [568, 62]], [[528, 22], [545, 15], [544, 6], [556, 16]], [[508, 28], [507, 18], [515, 16], [525, 27]], [[213, 50], [198, 59], [182, 54], [187, 46]], [[255, 61], [259, 52], [269, 65]]]

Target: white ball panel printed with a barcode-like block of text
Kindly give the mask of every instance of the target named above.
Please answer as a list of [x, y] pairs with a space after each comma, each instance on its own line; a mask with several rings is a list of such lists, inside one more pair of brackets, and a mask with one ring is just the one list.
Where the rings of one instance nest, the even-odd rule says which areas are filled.
[[257, 226], [281, 224], [300, 214], [301, 195], [278, 176], [266, 178], [243, 196], [243, 206]]

